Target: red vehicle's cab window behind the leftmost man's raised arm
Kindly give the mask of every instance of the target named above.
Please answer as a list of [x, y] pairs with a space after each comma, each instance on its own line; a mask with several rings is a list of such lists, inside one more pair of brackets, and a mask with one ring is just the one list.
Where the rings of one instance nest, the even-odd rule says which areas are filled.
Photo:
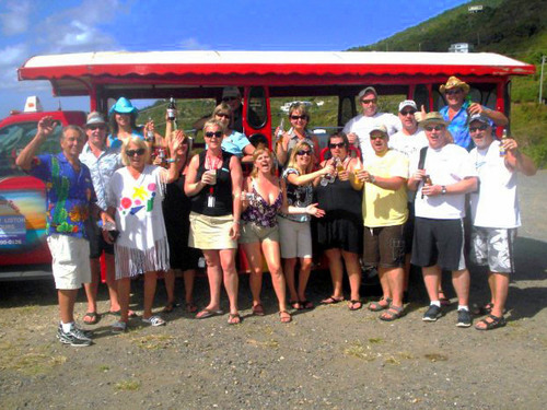
[[[24, 175], [15, 165], [15, 159], [23, 148], [36, 136], [37, 122], [16, 122], [0, 129], [0, 177]], [[59, 137], [62, 127], [57, 126], [55, 132], [39, 148], [38, 154], [44, 152], [58, 153], [60, 151]]]

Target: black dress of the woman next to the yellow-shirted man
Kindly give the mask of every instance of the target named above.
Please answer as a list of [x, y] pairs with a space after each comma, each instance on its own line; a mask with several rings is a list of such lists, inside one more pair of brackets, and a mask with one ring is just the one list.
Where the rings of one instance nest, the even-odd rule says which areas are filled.
[[317, 219], [317, 243], [325, 249], [340, 248], [353, 254], [363, 251], [362, 192], [349, 180], [335, 179], [315, 188], [318, 208], [325, 216]]

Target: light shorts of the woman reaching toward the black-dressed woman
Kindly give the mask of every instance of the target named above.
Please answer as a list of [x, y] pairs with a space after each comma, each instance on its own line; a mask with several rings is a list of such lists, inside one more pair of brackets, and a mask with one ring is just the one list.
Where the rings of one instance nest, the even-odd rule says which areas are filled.
[[310, 222], [294, 222], [278, 216], [281, 258], [311, 258], [312, 229]]

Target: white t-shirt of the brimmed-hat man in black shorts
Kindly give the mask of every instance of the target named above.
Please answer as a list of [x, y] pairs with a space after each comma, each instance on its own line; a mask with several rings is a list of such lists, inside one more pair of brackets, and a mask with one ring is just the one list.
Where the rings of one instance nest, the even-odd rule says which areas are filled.
[[[410, 175], [418, 169], [419, 154], [410, 165]], [[452, 185], [466, 177], [477, 176], [475, 164], [468, 152], [462, 147], [446, 144], [440, 150], [428, 148], [423, 169], [431, 177], [433, 185]], [[428, 197], [421, 195], [423, 184], [416, 194], [416, 216], [435, 220], [456, 220], [465, 216], [465, 194], [447, 194]]]

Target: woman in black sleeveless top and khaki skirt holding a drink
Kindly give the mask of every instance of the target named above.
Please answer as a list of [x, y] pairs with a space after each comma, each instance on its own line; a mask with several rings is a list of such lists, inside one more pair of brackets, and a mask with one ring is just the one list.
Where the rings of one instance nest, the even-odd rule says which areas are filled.
[[188, 245], [201, 249], [207, 262], [211, 300], [196, 317], [221, 315], [222, 278], [230, 300], [228, 323], [241, 323], [237, 313], [235, 254], [240, 237], [242, 169], [235, 155], [222, 151], [223, 125], [210, 119], [203, 126], [207, 150], [190, 160], [184, 191], [191, 197]]

